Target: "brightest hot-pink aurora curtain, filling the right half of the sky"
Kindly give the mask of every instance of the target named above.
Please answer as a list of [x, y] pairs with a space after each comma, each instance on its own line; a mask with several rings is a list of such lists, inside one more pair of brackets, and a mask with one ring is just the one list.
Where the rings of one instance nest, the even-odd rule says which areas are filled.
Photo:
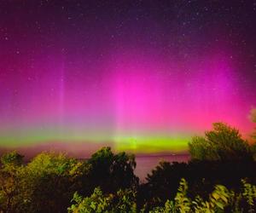
[[116, 61], [112, 77], [118, 130], [195, 133], [218, 121], [243, 133], [252, 130], [247, 118], [252, 102], [243, 100], [227, 56], [158, 64], [153, 58], [128, 58]]

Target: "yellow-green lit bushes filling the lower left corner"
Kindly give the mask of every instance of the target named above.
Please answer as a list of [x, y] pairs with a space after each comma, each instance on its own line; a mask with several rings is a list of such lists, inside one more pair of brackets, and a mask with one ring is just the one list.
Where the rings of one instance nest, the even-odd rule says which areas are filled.
[[40, 153], [26, 165], [21, 155], [1, 158], [0, 212], [65, 212], [90, 168], [64, 154]]

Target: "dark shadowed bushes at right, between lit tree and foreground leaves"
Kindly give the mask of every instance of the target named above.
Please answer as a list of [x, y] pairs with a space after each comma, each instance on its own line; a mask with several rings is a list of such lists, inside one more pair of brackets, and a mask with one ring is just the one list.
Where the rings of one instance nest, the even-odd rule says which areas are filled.
[[241, 179], [247, 178], [256, 183], [256, 162], [237, 161], [189, 161], [184, 163], [160, 162], [148, 175], [147, 181], [138, 189], [138, 206], [150, 210], [164, 205], [167, 199], [174, 199], [179, 181], [184, 178], [189, 182], [188, 196], [197, 195], [207, 199], [216, 185], [224, 185], [236, 192], [241, 189]]

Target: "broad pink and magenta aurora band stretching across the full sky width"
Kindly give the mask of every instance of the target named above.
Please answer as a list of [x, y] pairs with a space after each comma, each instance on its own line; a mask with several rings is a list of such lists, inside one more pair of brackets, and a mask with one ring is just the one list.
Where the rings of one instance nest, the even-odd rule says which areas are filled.
[[247, 115], [255, 102], [243, 98], [227, 54], [183, 61], [137, 49], [115, 52], [96, 73], [82, 61], [71, 68], [63, 57], [37, 68], [35, 74], [20, 67], [22, 72], [9, 74], [2, 84], [10, 89], [2, 94], [0, 130], [18, 143], [19, 135], [29, 138], [33, 131], [38, 137], [50, 132], [46, 141], [58, 141], [67, 131], [67, 141], [114, 141], [122, 135], [201, 134], [218, 121], [244, 135], [253, 130]]

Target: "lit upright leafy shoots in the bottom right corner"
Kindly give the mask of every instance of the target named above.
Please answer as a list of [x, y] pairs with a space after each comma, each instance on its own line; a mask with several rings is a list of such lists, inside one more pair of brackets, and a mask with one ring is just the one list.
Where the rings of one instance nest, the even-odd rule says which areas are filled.
[[[149, 212], [254, 212], [256, 210], [254, 206], [256, 199], [256, 186], [253, 186], [244, 180], [242, 180], [242, 183], [243, 188], [241, 193], [234, 193], [222, 185], [216, 185], [213, 192], [209, 194], [209, 198], [204, 200], [200, 196], [196, 196], [195, 199], [190, 199], [187, 195], [188, 183], [182, 179], [174, 201], [167, 200], [164, 207], [154, 207], [154, 209], [149, 210]], [[246, 201], [247, 205], [244, 205], [242, 201]]]

